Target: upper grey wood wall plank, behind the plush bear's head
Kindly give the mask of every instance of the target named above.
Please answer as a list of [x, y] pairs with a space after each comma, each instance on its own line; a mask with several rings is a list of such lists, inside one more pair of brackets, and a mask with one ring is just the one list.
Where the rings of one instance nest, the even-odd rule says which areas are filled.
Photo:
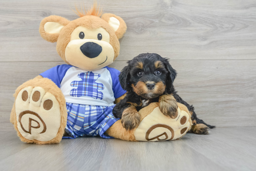
[[[74, 2], [2, 0], [0, 62], [60, 61], [55, 46], [38, 32], [49, 15], [78, 16]], [[77, 3], [79, 4], [80, 1]], [[100, 1], [105, 13], [121, 16], [127, 32], [117, 60], [154, 52], [172, 60], [256, 59], [256, 2], [238, 1]], [[85, 1], [90, 7], [91, 1]]]

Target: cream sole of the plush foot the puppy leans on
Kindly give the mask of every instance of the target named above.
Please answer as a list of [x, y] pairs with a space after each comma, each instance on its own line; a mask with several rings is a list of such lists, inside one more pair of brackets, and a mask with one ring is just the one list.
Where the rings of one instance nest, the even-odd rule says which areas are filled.
[[137, 141], [175, 140], [189, 130], [189, 119], [190, 115], [179, 107], [175, 119], [165, 116], [161, 113], [159, 107], [156, 107], [141, 121], [135, 130], [135, 139]]

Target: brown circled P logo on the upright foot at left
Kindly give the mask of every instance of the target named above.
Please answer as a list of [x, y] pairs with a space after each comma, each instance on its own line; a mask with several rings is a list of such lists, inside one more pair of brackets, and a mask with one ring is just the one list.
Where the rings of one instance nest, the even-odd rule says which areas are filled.
[[[21, 126], [22, 130], [23, 130], [25, 133], [31, 134], [31, 128], [37, 129], [37, 128], [40, 128], [40, 127], [41, 127], [40, 123], [39, 123], [37, 120], [34, 120], [34, 119], [32, 119], [32, 118], [29, 118], [29, 119], [28, 119], [28, 131], [25, 130], [25, 128], [23, 127], [23, 125], [22, 125], [22, 123], [21, 123], [21, 118], [22, 118], [22, 116], [25, 115], [25, 114], [32, 114], [32, 115], [35, 115], [35, 116], [42, 122], [43, 127], [44, 127], [44, 128], [43, 128], [43, 131], [40, 132], [39, 134], [45, 133], [45, 131], [46, 131], [46, 125], [45, 125], [43, 119], [42, 119], [36, 112], [32, 112], [32, 111], [23, 111], [23, 112], [21, 112], [21, 113], [19, 114], [19, 123], [20, 123], [20, 126]], [[36, 122], [36, 123], [37, 123], [37, 126], [32, 126], [32, 125], [31, 125], [31, 122], [32, 122], [32, 121]]]

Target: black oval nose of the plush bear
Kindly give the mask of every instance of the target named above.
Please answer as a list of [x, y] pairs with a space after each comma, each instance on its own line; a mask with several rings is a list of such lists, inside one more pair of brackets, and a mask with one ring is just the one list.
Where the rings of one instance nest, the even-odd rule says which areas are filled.
[[101, 53], [102, 47], [94, 42], [86, 42], [80, 47], [80, 50], [88, 58], [95, 58]]

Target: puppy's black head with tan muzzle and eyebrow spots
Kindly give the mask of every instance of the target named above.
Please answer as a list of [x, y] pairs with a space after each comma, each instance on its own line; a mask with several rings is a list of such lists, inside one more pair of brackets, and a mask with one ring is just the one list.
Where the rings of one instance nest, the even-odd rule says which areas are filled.
[[[119, 75], [121, 85], [125, 87], [124, 82], [127, 84], [126, 90], [130, 88], [137, 95], [147, 99], [158, 97], [164, 93], [166, 84], [171, 79], [171, 73], [168, 70], [171, 65], [167, 59], [154, 53], [147, 53], [140, 54], [128, 63], [127, 68], [124, 68]], [[127, 75], [126, 81], [122, 74]]]

